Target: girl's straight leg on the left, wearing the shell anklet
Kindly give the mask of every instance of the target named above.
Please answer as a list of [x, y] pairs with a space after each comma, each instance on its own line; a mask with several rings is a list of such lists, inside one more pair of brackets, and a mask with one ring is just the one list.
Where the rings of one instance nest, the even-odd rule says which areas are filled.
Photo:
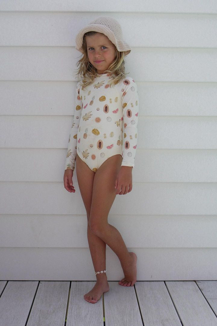
[[[90, 230], [89, 225], [95, 172], [92, 171], [78, 155], [76, 156], [76, 174], [82, 200], [87, 212], [87, 239], [94, 271], [104, 271], [106, 269], [106, 244]], [[84, 294], [84, 299], [88, 302], [96, 303], [100, 299], [102, 293], [108, 290], [109, 285], [106, 273], [96, 274], [96, 284], [91, 291]]]

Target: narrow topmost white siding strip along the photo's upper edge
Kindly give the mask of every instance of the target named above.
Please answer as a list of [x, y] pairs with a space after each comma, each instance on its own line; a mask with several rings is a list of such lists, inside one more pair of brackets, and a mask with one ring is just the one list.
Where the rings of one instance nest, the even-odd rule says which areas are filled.
[[[94, 11], [93, 11], [94, 9]], [[99, 15], [105, 15], [113, 11], [121, 12], [195, 12], [195, 13], [217, 13], [217, 4], [215, 0], [137, 0], [120, 1], [110, 0], [109, 2], [102, 2], [95, 0], [94, 7], [92, 2], [88, 0], [83, 1], [34, 1], [34, 0], [1, 0], [1, 11], [82, 11], [87, 15], [87, 12], [98, 12]]]

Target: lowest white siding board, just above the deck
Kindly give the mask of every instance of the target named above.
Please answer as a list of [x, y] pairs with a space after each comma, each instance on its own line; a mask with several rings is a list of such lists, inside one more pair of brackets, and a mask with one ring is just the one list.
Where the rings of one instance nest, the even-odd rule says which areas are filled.
[[[137, 255], [137, 281], [216, 279], [216, 248], [128, 248], [128, 251]], [[1, 280], [96, 281], [89, 248], [0, 248], [0, 257], [4, 261], [0, 265]], [[109, 247], [106, 269], [108, 281], [123, 277], [120, 261]]]

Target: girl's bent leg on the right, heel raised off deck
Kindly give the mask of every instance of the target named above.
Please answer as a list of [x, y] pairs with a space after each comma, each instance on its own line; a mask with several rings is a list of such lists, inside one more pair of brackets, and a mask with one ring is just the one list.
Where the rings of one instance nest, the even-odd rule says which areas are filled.
[[[124, 278], [123, 286], [133, 286], [136, 282], [136, 254], [128, 252], [120, 232], [108, 224], [108, 214], [115, 200], [115, 180], [121, 169], [120, 154], [109, 157], [96, 171], [90, 210], [90, 228], [116, 253], [121, 262]], [[104, 266], [102, 265], [104, 268]], [[101, 270], [103, 270], [103, 268]]]

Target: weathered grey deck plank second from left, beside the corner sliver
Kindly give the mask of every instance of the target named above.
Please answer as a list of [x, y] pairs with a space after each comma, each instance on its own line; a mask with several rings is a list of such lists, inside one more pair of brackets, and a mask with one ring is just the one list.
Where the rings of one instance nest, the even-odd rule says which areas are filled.
[[[4, 281], [2, 281], [4, 282]], [[38, 281], [8, 281], [0, 298], [0, 325], [25, 325]]]

